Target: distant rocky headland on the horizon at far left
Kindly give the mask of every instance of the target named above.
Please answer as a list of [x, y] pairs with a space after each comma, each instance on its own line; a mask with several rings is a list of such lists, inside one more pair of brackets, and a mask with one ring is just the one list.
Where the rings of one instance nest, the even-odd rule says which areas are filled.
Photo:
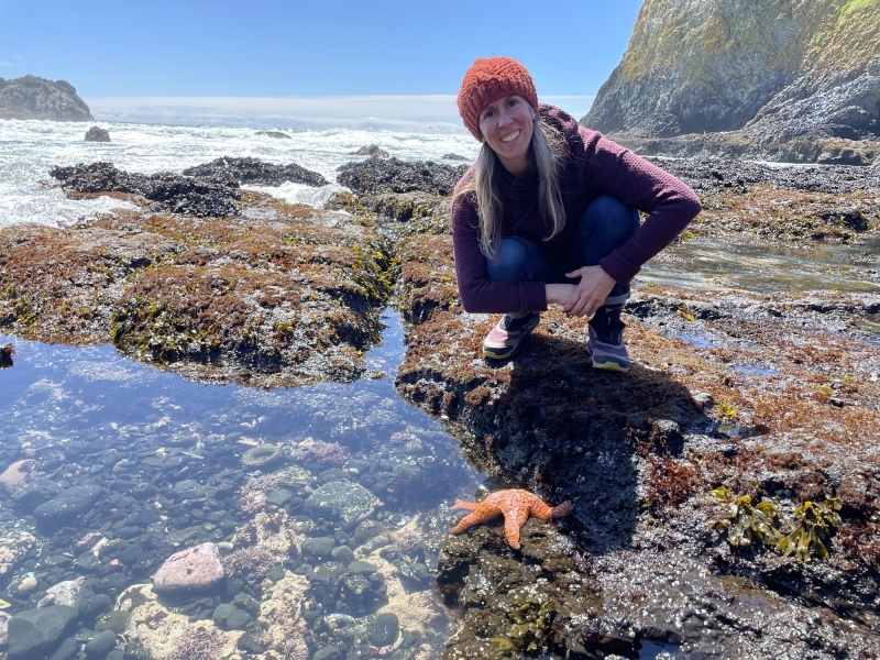
[[92, 121], [89, 107], [66, 80], [22, 76], [0, 78], [0, 119]]

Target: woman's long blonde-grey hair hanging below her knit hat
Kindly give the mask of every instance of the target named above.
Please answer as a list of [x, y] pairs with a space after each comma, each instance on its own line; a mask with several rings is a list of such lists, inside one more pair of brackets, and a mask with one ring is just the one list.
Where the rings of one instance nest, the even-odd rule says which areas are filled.
[[[547, 119], [537, 114], [532, 120], [529, 163], [538, 173], [538, 212], [547, 223], [549, 241], [565, 226], [565, 209], [559, 188], [559, 170], [568, 156], [568, 144], [562, 132]], [[480, 217], [480, 251], [488, 258], [498, 255], [504, 226], [504, 206], [501, 197], [501, 174], [504, 166], [487, 142], [483, 143], [476, 158], [474, 175], [455, 194], [473, 193]]]

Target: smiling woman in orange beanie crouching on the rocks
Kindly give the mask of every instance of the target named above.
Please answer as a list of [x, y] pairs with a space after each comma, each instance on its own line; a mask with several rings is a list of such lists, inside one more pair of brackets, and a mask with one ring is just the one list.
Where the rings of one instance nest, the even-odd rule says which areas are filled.
[[[700, 212], [685, 184], [538, 105], [529, 73], [477, 59], [459, 91], [483, 148], [455, 189], [452, 240], [462, 306], [504, 316], [486, 358], [513, 355], [550, 304], [590, 319], [593, 366], [629, 370], [620, 311], [629, 280]], [[648, 213], [644, 224], [639, 211]]]

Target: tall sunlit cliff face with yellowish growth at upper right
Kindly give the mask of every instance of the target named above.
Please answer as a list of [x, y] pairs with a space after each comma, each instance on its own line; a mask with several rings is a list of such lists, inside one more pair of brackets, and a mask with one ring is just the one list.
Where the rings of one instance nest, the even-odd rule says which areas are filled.
[[880, 132], [880, 2], [646, 0], [582, 123], [669, 138]]

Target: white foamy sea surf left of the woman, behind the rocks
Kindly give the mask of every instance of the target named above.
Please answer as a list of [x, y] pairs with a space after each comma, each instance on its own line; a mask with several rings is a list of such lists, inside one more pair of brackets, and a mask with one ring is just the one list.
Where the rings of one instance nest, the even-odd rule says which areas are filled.
[[[109, 143], [85, 142], [90, 125], [110, 132]], [[46, 188], [56, 165], [110, 161], [120, 169], [152, 174], [180, 173], [220, 156], [253, 156], [270, 163], [296, 163], [336, 180], [336, 169], [360, 160], [351, 152], [376, 144], [405, 161], [432, 160], [458, 165], [465, 161], [442, 161], [454, 153], [476, 157], [479, 144], [470, 135], [404, 133], [334, 129], [285, 130], [290, 140], [256, 135], [254, 129], [230, 127], [174, 127], [110, 122], [0, 121], [0, 228], [16, 222], [41, 222], [65, 227], [124, 204], [99, 198], [73, 201], [58, 188]], [[260, 188], [262, 189], [262, 188]], [[266, 188], [287, 201], [320, 206], [334, 191], [333, 184], [321, 189], [288, 184]]]

